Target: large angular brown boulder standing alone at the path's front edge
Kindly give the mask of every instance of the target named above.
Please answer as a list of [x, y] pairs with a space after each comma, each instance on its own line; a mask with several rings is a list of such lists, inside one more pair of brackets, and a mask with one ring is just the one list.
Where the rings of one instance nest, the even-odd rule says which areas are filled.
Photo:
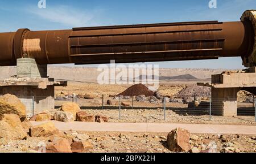
[[172, 152], [188, 152], [190, 133], [182, 128], [172, 130], [167, 136], [168, 149]]

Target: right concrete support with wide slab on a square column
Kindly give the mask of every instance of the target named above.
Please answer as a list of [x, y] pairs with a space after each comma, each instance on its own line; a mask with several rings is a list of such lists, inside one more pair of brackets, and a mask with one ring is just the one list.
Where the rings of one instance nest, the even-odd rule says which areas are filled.
[[212, 88], [213, 115], [237, 116], [237, 92], [247, 90], [256, 94], [256, 67], [212, 75], [212, 84], [197, 85]]

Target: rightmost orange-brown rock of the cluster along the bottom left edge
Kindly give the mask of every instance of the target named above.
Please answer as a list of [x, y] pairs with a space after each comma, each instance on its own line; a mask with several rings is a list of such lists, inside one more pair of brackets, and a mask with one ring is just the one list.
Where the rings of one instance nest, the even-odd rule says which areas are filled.
[[71, 144], [71, 150], [73, 153], [82, 153], [90, 149], [93, 149], [93, 144], [91, 144], [89, 141], [73, 139]]

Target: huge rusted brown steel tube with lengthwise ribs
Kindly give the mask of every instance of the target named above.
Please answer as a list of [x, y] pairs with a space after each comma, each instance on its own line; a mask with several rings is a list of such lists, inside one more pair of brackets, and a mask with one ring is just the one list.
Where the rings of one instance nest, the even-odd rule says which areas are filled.
[[250, 23], [199, 21], [0, 33], [0, 66], [17, 58], [38, 64], [98, 64], [244, 57], [250, 54]]

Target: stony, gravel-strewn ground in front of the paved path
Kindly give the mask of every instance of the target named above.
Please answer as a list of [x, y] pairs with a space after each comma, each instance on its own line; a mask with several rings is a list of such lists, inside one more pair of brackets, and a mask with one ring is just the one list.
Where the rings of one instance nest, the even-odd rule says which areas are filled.
[[[147, 152], [169, 153], [167, 133], [117, 133], [117, 132], [65, 132], [66, 136], [84, 137], [93, 148], [86, 152]], [[35, 152], [42, 144], [50, 144], [47, 137], [27, 137], [25, 140], [0, 139], [0, 152]], [[256, 152], [254, 136], [244, 135], [191, 135], [189, 145], [200, 152], [216, 144], [216, 152]]]

